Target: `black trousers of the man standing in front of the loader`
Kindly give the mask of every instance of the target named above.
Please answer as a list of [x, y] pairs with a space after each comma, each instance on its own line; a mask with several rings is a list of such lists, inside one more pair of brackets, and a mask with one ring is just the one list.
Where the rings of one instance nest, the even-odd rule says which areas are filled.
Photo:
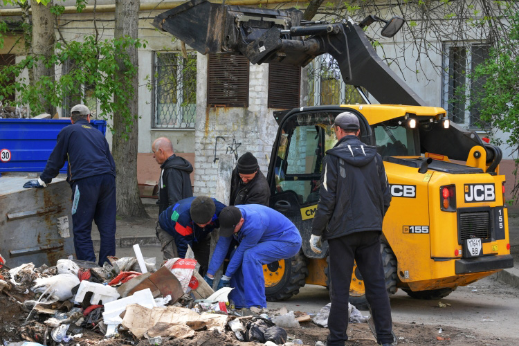
[[328, 316], [327, 345], [344, 346], [348, 336], [349, 284], [354, 261], [364, 279], [366, 299], [370, 304], [378, 343], [392, 343], [391, 306], [385, 289], [384, 268], [380, 253], [380, 231], [356, 232], [328, 239], [331, 307]]

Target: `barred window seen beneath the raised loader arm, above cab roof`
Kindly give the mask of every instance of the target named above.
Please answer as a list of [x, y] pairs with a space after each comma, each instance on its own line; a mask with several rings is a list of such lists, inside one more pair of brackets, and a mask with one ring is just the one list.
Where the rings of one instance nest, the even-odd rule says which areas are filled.
[[306, 71], [303, 81], [306, 106], [364, 103], [355, 87], [343, 82], [339, 66], [331, 55], [319, 55]]

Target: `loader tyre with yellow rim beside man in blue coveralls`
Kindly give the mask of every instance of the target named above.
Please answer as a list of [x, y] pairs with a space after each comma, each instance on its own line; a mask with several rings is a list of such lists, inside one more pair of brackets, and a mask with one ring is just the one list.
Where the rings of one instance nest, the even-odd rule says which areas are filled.
[[263, 266], [266, 300], [275, 302], [298, 294], [308, 276], [307, 262], [300, 251], [288, 260], [279, 260]]

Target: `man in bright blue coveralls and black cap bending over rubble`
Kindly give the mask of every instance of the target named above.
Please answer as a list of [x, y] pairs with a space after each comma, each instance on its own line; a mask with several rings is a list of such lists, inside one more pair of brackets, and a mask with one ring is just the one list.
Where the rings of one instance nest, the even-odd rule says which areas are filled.
[[263, 264], [293, 257], [300, 251], [298, 228], [280, 212], [258, 204], [228, 206], [220, 212], [220, 237], [206, 282], [224, 262], [231, 241], [239, 243], [217, 289], [233, 287], [229, 298], [237, 308], [266, 307]]

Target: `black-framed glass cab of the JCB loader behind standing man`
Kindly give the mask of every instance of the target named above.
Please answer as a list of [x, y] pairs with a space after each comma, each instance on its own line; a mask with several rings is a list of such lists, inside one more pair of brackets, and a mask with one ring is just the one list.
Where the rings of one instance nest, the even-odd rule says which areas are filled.
[[309, 249], [313, 212], [319, 201], [320, 177], [325, 152], [336, 145], [332, 125], [343, 111], [359, 118], [361, 140], [374, 143], [372, 129], [363, 115], [345, 107], [312, 107], [291, 111], [280, 122], [280, 130], [272, 152], [268, 182], [271, 186], [271, 208], [282, 212], [303, 238], [302, 250], [307, 257], [324, 257]]

